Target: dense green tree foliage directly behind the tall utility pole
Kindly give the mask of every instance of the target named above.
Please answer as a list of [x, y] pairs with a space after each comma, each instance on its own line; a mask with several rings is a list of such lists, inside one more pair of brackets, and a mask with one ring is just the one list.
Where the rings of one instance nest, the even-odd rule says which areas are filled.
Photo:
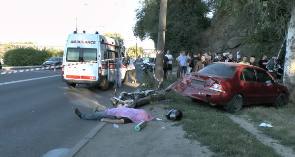
[[[157, 43], [160, 0], [143, 0], [136, 10], [134, 36]], [[209, 26], [209, 9], [202, 0], [168, 0], [165, 49], [172, 53], [195, 52], [200, 32]]]

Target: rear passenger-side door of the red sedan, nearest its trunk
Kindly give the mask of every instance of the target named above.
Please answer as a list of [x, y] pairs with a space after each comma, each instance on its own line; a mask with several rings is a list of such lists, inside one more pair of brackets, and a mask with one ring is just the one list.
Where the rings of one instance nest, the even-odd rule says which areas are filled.
[[241, 93], [244, 104], [259, 104], [260, 94], [257, 91], [256, 76], [252, 67], [244, 67], [240, 73]]

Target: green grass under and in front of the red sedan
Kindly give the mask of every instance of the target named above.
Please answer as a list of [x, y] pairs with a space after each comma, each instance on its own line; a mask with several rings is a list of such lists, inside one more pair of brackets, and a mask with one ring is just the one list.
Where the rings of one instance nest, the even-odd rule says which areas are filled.
[[[144, 81], [152, 80], [143, 78]], [[177, 78], [165, 80], [163, 89], [175, 81]], [[174, 101], [154, 103], [163, 104], [164, 109], [181, 110], [183, 118], [175, 125], [182, 126], [186, 138], [197, 140], [216, 153], [213, 157], [281, 157], [273, 148], [266, 146], [251, 132], [233, 122], [223, 107], [194, 103], [190, 98], [183, 97], [173, 90], [166, 92], [165, 98], [172, 98]], [[247, 115], [248, 120], [266, 136], [277, 139], [282, 145], [293, 147], [295, 150], [294, 113], [295, 106], [290, 104], [280, 109], [272, 106], [243, 107], [236, 115]], [[273, 128], [260, 128], [259, 124], [263, 122], [271, 124]]]

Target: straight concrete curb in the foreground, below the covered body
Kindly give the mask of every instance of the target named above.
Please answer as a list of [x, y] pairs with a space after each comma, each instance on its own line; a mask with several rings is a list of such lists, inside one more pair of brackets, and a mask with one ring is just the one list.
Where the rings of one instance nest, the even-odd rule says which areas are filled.
[[87, 142], [104, 127], [107, 123], [100, 122], [94, 129], [92, 129], [80, 142], [78, 142], [66, 155], [65, 157], [73, 157], [79, 150], [87, 144]]

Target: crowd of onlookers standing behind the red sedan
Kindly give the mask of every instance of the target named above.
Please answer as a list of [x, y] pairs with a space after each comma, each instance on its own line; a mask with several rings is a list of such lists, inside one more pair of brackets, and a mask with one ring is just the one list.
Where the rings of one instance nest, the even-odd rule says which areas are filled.
[[[236, 58], [234, 58], [234, 54], [230, 52], [215, 52], [214, 56], [212, 55], [211, 51], [205, 52], [203, 55], [201, 55], [201, 53], [195, 52], [193, 53], [193, 56], [191, 56], [190, 53], [187, 53], [186, 55], [185, 51], [181, 51], [179, 53], [179, 56], [177, 56], [176, 58], [177, 78], [180, 78], [181, 80], [186, 73], [198, 72], [199, 70], [213, 62], [234, 62], [261, 67], [268, 71], [274, 78], [281, 79], [283, 69], [280, 63], [280, 59], [277, 59], [277, 56], [275, 54], [269, 60], [267, 60], [267, 55], [264, 54], [262, 56], [262, 59], [258, 62], [256, 61], [256, 57], [254, 55], [250, 56], [250, 58], [247, 55], [242, 56], [242, 58], [241, 56], [242, 55], [240, 49], [236, 52]], [[168, 50], [163, 60], [164, 79], [167, 79], [167, 76], [170, 76], [169, 78], [172, 78], [172, 60], [173, 56]], [[170, 75], [168, 75], [168, 72], [170, 72]]]

